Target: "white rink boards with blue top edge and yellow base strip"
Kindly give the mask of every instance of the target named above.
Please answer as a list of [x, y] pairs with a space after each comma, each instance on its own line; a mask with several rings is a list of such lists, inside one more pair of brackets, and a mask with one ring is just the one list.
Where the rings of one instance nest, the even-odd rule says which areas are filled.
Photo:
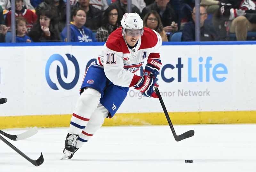
[[[256, 123], [256, 45], [238, 43], [162, 46], [157, 82], [174, 124]], [[102, 45], [0, 44], [0, 97], [8, 98], [0, 105], [0, 128], [68, 126], [85, 69]], [[150, 124], [167, 124], [159, 100], [133, 88], [104, 123]]]

